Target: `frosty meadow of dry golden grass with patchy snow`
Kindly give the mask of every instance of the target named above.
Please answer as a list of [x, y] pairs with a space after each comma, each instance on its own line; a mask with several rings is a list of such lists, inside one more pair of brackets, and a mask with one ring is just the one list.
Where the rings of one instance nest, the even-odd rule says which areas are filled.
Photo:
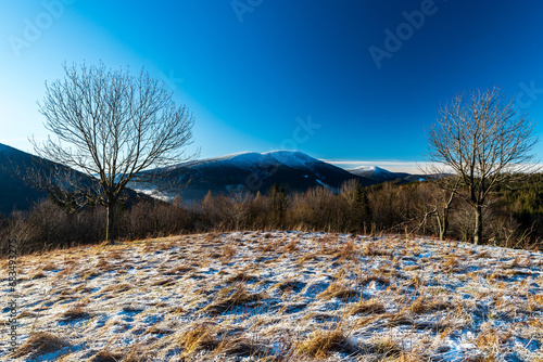
[[235, 232], [18, 261], [23, 346], [8, 357], [3, 323], [2, 361], [543, 360], [541, 253]]

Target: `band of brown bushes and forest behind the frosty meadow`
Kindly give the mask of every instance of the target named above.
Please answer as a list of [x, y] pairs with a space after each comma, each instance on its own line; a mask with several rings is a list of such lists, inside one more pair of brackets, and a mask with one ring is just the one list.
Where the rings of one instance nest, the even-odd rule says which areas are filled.
[[[449, 207], [446, 238], [470, 242], [472, 209], [462, 198]], [[117, 240], [136, 240], [180, 233], [232, 230], [304, 230], [344, 233], [407, 233], [440, 235], [444, 201], [451, 194], [430, 182], [382, 183], [362, 188], [354, 181], [339, 192], [316, 188], [287, 194], [274, 185], [267, 194], [209, 193], [201, 204], [186, 206], [142, 201], [118, 207]], [[503, 188], [484, 208], [487, 244], [540, 248], [543, 244], [543, 174], [526, 177], [515, 188]], [[105, 234], [102, 207], [74, 209], [45, 199], [29, 211], [16, 211], [0, 220], [0, 248], [16, 241], [22, 254], [58, 247], [100, 243]]]

